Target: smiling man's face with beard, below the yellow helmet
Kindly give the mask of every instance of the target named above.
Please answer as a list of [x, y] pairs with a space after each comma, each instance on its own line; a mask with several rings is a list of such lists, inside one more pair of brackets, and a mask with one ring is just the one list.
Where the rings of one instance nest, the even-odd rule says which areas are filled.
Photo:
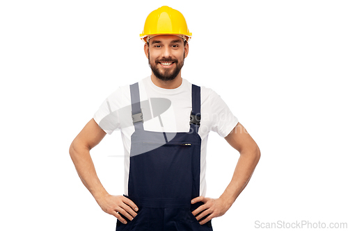
[[152, 73], [160, 80], [168, 81], [180, 73], [189, 45], [184, 46], [184, 40], [175, 35], [158, 35], [152, 37], [144, 49]]

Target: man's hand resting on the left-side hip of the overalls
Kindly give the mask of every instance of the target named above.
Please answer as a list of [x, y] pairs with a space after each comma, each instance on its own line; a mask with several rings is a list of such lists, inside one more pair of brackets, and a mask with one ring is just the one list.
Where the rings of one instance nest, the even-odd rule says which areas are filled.
[[138, 207], [132, 200], [126, 198], [125, 196], [113, 196], [110, 194], [106, 194], [106, 196], [102, 196], [97, 199], [98, 205], [103, 209], [107, 214], [111, 214], [116, 216], [118, 220], [122, 223], [127, 223], [125, 219], [122, 218], [120, 214], [127, 217], [129, 221], [132, 221], [136, 216], [136, 212], [138, 211]]

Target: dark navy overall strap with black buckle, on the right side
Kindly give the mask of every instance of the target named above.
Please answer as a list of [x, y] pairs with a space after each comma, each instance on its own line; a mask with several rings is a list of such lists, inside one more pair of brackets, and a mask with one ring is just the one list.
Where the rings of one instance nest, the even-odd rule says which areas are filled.
[[200, 87], [192, 85], [192, 110], [190, 116], [190, 127], [198, 133], [200, 126]]

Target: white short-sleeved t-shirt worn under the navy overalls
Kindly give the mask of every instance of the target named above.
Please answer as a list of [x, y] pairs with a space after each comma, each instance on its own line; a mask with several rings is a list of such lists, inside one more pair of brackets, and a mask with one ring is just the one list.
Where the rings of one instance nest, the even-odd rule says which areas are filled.
[[[153, 112], [143, 111], [143, 128], [155, 132], [189, 132], [191, 114], [191, 83], [182, 79], [180, 87], [164, 89], [157, 87], [150, 76], [139, 81], [141, 109], [151, 108], [153, 98], [168, 99], [171, 103], [160, 117], [154, 117]], [[150, 99], [150, 100], [149, 100]], [[125, 195], [128, 195], [129, 153], [131, 148], [131, 135], [134, 132], [132, 123], [132, 108], [129, 85], [118, 87], [110, 94], [95, 112], [93, 119], [108, 134], [113, 130], [120, 130], [125, 150]], [[200, 87], [200, 128], [198, 135], [202, 139], [200, 151], [200, 196], [205, 196], [207, 185], [205, 182], [205, 160], [207, 154], [207, 138], [209, 131], [217, 132], [221, 137], [226, 137], [238, 123], [228, 105], [212, 89]], [[107, 126], [103, 123], [105, 118], [112, 114]], [[103, 126], [100, 124], [102, 121]], [[112, 124], [110, 124], [112, 123]]]

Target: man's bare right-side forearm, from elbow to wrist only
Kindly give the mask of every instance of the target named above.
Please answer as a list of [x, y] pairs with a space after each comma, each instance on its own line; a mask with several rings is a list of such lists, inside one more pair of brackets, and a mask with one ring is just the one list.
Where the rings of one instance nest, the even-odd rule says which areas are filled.
[[226, 190], [220, 196], [220, 198], [226, 202], [228, 207], [232, 206], [239, 194], [248, 184], [259, 160], [260, 150], [258, 147], [256, 147], [255, 150], [240, 153], [232, 180], [228, 187], [226, 187]]

